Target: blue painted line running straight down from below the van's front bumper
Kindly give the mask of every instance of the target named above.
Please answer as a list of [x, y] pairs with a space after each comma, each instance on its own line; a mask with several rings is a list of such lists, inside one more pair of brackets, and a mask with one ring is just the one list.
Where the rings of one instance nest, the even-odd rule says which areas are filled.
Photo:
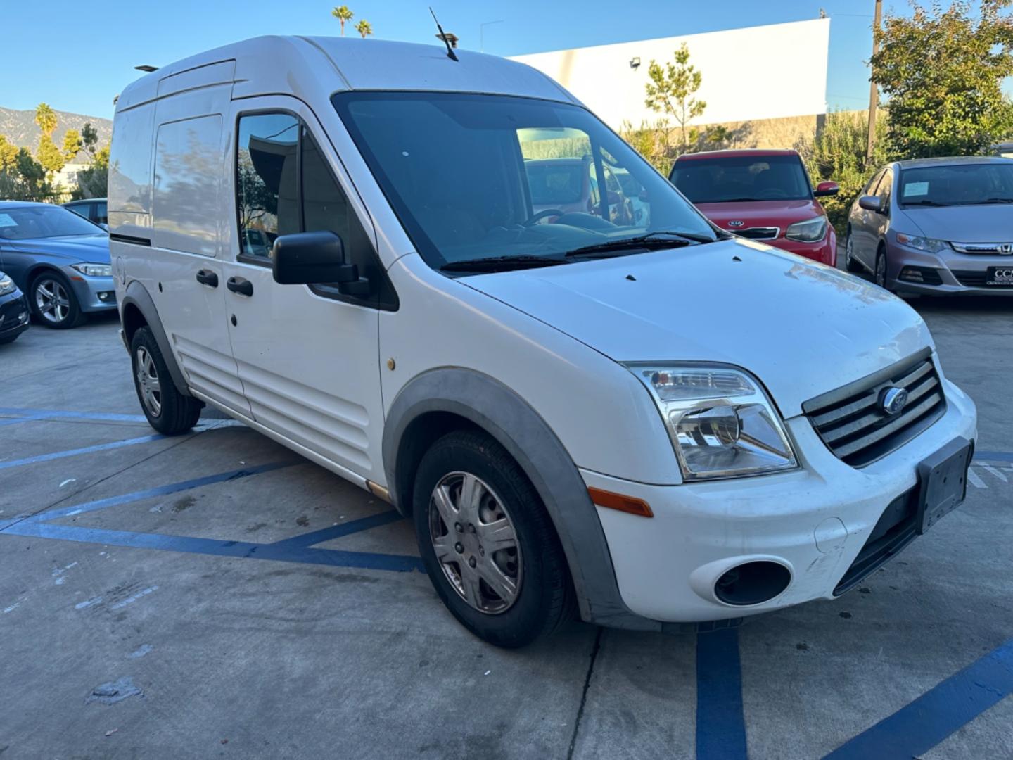
[[746, 760], [738, 629], [697, 634], [697, 760]]

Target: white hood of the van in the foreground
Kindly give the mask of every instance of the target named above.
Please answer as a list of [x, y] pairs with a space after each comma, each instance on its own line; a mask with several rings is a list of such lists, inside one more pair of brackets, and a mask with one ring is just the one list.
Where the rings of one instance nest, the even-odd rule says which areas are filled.
[[459, 282], [617, 362], [743, 367], [786, 417], [932, 345], [922, 318], [886, 291], [747, 240]]

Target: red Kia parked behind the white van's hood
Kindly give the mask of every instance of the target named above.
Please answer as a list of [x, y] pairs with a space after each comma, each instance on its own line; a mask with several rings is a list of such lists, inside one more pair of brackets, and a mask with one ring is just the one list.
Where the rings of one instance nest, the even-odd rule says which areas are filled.
[[837, 265], [837, 235], [816, 201], [836, 196], [837, 182], [813, 189], [795, 151], [690, 153], [676, 159], [669, 178], [722, 230]]

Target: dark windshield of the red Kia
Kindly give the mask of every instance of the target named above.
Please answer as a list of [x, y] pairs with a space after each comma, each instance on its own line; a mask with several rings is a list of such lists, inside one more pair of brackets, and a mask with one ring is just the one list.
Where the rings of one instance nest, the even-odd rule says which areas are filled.
[[672, 181], [695, 204], [812, 198], [805, 169], [794, 155], [684, 158], [676, 162]]

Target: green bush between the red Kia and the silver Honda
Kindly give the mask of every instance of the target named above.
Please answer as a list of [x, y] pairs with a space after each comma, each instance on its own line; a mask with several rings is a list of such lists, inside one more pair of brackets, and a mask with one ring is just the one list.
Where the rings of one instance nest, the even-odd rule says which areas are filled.
[[865, 160], [869, 134], [867, 110], [831, 111], [813, 139], [795, 145], [813, 184], [835, 181], [841, 186], [837, 196], [820, 202], [842, 242], [851, 204], [876, 170], [894, 159], [884, 139], [891, 115], [891, 110], [879, 111], [875, 149], [869, 162]]

